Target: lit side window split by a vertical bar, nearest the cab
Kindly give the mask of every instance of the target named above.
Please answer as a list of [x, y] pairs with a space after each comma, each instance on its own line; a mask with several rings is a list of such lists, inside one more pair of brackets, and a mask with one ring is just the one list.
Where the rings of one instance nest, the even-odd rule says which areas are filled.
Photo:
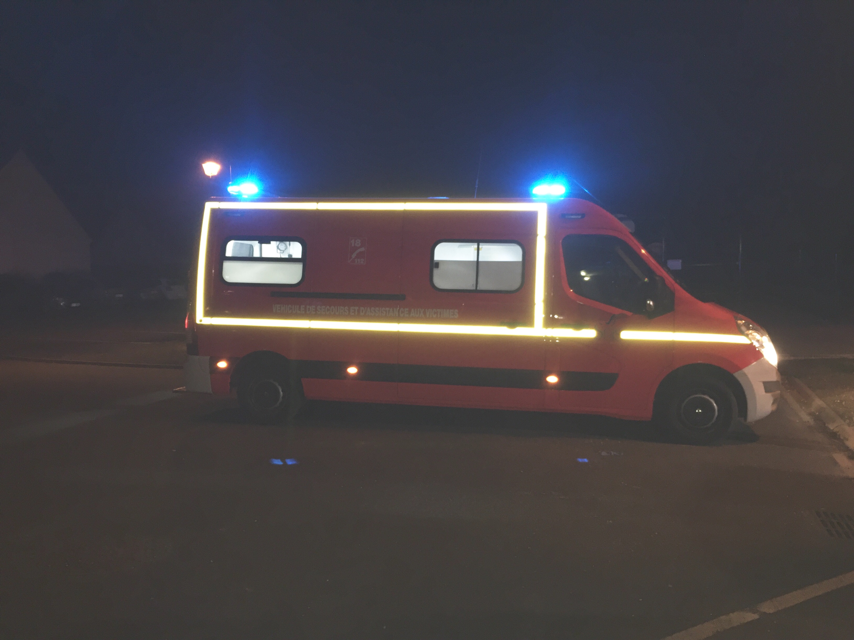
[[444, 291], [512, 293], [524, 281], [524, 251], [512, 241], [447, 240], [433, 247], [430, 278]]

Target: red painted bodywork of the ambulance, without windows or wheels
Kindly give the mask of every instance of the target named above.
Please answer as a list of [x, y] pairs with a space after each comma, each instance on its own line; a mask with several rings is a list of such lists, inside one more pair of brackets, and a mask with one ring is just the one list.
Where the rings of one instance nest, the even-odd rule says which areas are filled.
[[[447, 207], [453, 207], [453, 202]], [[211, 208], [202, 315], [532, 327], [537, 230], [537, 213], [532, 211], [234, 212]], [[561, 248], [562, 239], [569, 234], [617, 236], [629, 243], [675, 292], [676, 311], [648, 319], [576, 295], [567, 281]], [[225, 282], [222, 256], [225, 243], [235, 236], [300, 238], [305, 242], [302, 281], [293, 287]], [[350, 251], [354, 239], [365, 243], [356, 261]], [[506, 294], [434, 288], [431, 251], [443, 240], [520, 243], [524, 247], [522, 288]], [[229, 393], [229, 372], [240, 358], [272, 351], [291, 360], [329, 365], [323, 370], [332, 371], [331, 377], [303, 375], [309, 399], [542, 409], [648, 419], [658, 384], [670, 371], [685, 364], [706, 363], [734, 373], [761, 358], [749, 344], [621, 339], [624, 330], [722, 335], [737, 335], [738, 330], [731, 312], [693, 299], [646, 255], [623, 224], [600, 207], [573, 199], [549, 203], [545, 242], [543, 329], [595, 329], [595, 338], [199, 323], [199, 353], [231, 363], [225, 373], [212, 374], [213, 392]], [[278, 293], [274, 296], [274, 292]], [[313, 295], [299, 297], [301, 293]], [[319, 298], [319, 294], [327, 297]], [[332, 294], [343, 297], [330, 299]], [[394, 296], [397, 300], [389, 300]], [[383, 373], [373, 380], [336, 378], [335, 368], [350, 364], [365, 364]], [[389, 371], [397, 377], [389, 377], [385, 373]], [[495, 382], [496, 371], [511, 372], [516, 382], [500, 386]], [[545, 381], [546, 375], [555, 372], [581, 372], [574, 375], [588, 375], [594, 381], [616, 376], [616, 381], [601, 390], [557, 390]], [[418, 375], [426, 376], [424, 381]]]

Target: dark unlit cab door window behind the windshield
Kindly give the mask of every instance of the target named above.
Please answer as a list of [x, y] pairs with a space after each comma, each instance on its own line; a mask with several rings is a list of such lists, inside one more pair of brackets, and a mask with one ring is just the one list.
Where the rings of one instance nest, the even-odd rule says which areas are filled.
[[574, 235], [561, 244], [566, 280], [576, 294], [632, 313], [646, 309], [655, 273], [626, 241]]

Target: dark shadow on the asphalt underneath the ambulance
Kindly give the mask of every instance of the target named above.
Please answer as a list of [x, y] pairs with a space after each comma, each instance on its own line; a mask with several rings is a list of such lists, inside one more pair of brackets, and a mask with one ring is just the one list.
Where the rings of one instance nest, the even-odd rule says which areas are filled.
[[[237, 406], [219, 408], [199, 418], [219, 424], [252, 424]], [[652, 422], [621, 420], [606, 416], [551, 413], [545, 411], [468, 409], [412, 404], [308, 401], [290, 421], [295, 428], [339, 428], [399, 430], [412, 433], [483, 433], [529, 438], [593, 438], [670, 442]], [[271, 428], [282, 428], [271, 425]], [[740, 422], [720, 445], [736, 445], [757, 439]]]

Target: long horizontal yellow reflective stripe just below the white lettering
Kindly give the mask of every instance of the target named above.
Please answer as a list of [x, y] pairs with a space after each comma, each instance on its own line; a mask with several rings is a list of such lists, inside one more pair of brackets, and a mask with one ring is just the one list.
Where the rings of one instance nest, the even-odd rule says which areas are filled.
[[417, 334], [507, 335], [529, 338], [595, 338], [595, 329], [535, 329], [490, 327], [470, 324], [350, 323], [336, 320], [278, 320], [254, 317], [202, 317], [201, 324], [230, 327], [282, 327], [290, 329], [355, 329], [360, 331], [404, 331]]

